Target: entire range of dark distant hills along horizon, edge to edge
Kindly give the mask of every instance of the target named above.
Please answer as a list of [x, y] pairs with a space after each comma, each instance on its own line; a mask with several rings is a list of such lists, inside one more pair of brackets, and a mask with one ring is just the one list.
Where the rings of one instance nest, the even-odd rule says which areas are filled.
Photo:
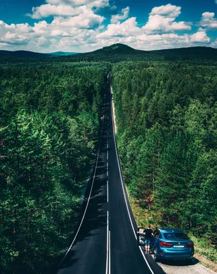
[[217, 49], [212, 47], [187, 47], [180, 49], [161, 49], [142, 51], [127, 45], [114, 44], [88, 53], [58, 51], [36, 53], [32, 51], [0, 51], [0, 59], [5, 58], [42, 58], [46, 62], [120, 62], [120, 61], [173, 61], [173, 60], [213, 60], [217, 61]]

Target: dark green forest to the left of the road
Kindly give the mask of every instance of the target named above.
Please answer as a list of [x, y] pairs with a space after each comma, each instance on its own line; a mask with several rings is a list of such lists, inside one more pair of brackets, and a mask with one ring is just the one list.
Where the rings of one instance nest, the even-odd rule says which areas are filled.
[[42, 273], [68, 247], [95, 160], [109, 71], [105, 63], [1, 65], [2, 273]]

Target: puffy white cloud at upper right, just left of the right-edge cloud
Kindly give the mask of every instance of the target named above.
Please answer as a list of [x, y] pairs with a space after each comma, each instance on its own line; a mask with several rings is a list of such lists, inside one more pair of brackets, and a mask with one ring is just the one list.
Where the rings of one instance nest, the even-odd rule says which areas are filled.
[[183, 21], [175, 22], [175, 19], [179, 14], [181, 14], [181, 7], [176, 5], [168, 4], [155, 7], [149, 14], [149, 21], [142, 29], [147, 34], [190, 30], [190, 23]]

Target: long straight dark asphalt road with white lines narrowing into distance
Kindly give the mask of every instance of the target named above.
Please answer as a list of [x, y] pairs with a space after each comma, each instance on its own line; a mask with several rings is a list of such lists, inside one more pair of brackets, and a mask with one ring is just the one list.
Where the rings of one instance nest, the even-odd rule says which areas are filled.
[[111, 75], [103, 99], [99, 155], [86, 210], [58, 274], [162, 274], [136, 241], [137, 225], [120, 172], [112, 115]]

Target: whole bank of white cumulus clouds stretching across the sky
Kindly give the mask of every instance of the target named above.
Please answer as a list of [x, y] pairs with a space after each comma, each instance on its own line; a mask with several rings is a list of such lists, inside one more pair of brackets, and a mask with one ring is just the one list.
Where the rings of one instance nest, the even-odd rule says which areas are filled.
[[[109, 25], [103, 25], [102, 14], [112, 14]], [[198, 31], [190, 34], [192, 24], [177, 21], [180, 14], [181, 7], [176, 5], [155, 7], [148, 22], [139, 27], [136, 17], [128, 18], [129, 7], [118, 14], [109, 0], [47, 0], [33, 8], [31, 18], [40, 19], [33, 26], [0, 21], [0, 47], [41, 52], [84, 52], [118, 42], [144, 50], [192, 45], [217, 47], [217, 40], [211, 44], [206, 32], [215, 29], [214, 12], [203, 13]], [[53, 16], [51, 23], [42, 19], [48, 16]]]

